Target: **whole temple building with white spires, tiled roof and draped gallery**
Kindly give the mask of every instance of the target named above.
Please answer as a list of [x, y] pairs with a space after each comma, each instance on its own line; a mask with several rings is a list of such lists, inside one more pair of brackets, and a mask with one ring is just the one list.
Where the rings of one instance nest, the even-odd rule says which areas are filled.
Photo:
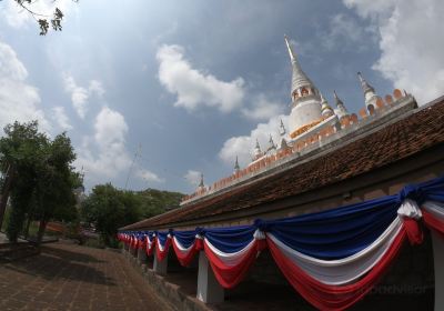
[[[382, 98], [357, 72], [363, 101], [351, 113], [284, 41], [291, 110], [280, 139], [256, 140], [251, 163], [233, 159], [212, 184], [202, 175], [179, 209], [121, 228], [124, 253], [181, 310], [443, 310], [444, 97]], [[174, 282], [194, 290], [174, 295]]]

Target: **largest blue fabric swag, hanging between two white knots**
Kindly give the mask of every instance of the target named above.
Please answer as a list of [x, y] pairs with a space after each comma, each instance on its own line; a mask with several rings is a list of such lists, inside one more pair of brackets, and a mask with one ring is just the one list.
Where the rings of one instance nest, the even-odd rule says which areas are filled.
[[396, 218], [394, 197], [342, 209], [268, 221], [266, 231], [304, 254], [319, 259], [352, 255], [380, 237]]

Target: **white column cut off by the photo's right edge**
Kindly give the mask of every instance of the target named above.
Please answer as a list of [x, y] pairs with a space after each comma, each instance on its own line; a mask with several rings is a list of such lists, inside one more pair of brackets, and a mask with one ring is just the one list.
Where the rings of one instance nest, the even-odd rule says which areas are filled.
[[444, 310], [444, 239], [432, 232], [433, 260], [435, 265], [435, 311]]

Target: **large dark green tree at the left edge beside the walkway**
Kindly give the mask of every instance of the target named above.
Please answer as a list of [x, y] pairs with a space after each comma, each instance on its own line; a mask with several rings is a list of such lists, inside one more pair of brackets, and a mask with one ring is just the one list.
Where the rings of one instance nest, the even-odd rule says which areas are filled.
[[81, 184], [71, 167], [75, 153], [65, 133], [49, 139], [39, 132], [38, 122], [14, 122], [0, 139], [0, 167], [13, 170], [10, 191], [11, 214], [7, 234], [17, 241], [26, 218], [40, 221], [38, 241], [49, 220], [75, 218], [73, 189]]

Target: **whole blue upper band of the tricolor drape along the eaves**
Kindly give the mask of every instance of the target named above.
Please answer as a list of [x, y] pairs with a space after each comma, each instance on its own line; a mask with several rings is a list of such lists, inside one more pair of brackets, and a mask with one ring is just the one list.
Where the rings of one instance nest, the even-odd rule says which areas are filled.
[[[253, 225], [196, 228], [174, 231], [173, 234], [185, 248], [193, 243], [194, 235], [199, 233], [219, 250], [232, 253], [245, 248], [253, 240], [254, 231], [260, 229], [273, 233], [280, 241], [304, 254], [326, 260], [341, 259], [374, 242], [396, 218], [397, 209], [405, 199], [415, 200], [418, 204], [425, 200], [444, 202], [444, 177], [406, 185], [396, 195], [329, 211], [269, 221], [256, 220]], [[167, 235], [168, 232], [158, 232], [162, 245]]]

